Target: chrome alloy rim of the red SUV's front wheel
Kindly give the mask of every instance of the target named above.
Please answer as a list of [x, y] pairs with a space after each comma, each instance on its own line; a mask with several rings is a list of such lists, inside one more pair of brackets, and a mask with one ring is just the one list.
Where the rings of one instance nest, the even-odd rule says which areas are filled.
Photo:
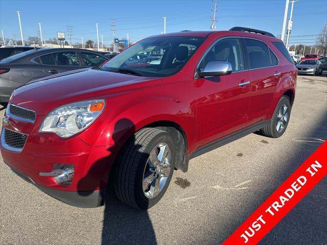
[[165, 187], [170, 173], [172, 155], [168, 144], [160, 143], [151, 151], [143, 173], [143, 192], [155, 198]]

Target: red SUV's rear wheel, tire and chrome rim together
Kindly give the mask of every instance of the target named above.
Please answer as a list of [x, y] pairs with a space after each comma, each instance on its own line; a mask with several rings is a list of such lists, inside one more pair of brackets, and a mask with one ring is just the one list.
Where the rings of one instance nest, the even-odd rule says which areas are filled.
[[275, 108], [269, 124], [261, 129], [261, 133], [270, 138], [281, 137], [287, 128], [290, 115], [290, 99], [288, 96], [283, 95]]

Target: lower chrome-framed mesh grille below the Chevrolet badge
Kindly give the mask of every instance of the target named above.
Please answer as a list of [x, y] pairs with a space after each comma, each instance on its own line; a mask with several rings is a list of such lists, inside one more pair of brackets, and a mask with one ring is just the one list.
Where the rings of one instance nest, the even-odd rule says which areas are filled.
[[7, 150], [21, 152], [27, 137], [27, 134], [21, 134], [4, 128], [1, 133], [1, 144]]

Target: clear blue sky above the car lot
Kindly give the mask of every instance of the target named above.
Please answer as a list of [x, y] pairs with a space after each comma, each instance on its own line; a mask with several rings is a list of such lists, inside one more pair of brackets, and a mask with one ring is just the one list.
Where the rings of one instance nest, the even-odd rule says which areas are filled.
[[[285, 0], [219, 0], [216, 30], [251, 26], [275, 36], [281, 35], [285, 3]], [[82, 37], [84, 42], [88, 39], [97, 42], [98, 23], [100, 43], [102, 35], [104, 45], [109, 45], [112, 43], [112, 18], [116, 25], [115, 37], [126, 39], [129, 33], [132, 42], [163, 32], [164, 16], [167, 17], [167, 33], [210, 30], [213, 1], [0, 0], [0, 29], [5, 38], [16, 36], [20, 40], [16, 11], [20, 11], [25, 40], [29, 36], [37, 36], [38, 23], [41, 22], [43, 40], [56, 37], [57, 32], [65, 32], [68, 39], [68, 25], [73, 29], [73, 43], [81, 43]], [[324, 24], [327, 24], [326, 0], [300, 0], [294, 3], [290, 45], [314, 44]]]

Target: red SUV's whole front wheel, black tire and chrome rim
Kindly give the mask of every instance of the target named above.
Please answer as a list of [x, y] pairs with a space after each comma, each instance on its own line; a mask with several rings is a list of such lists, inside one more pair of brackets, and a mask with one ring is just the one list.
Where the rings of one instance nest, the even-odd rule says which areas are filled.
[[115, 192], [127, 205], [148, 209], [165, 194], [175, 166], [176, 146], [162, 130], [144, 128], [126, 143], [116, 162]]

